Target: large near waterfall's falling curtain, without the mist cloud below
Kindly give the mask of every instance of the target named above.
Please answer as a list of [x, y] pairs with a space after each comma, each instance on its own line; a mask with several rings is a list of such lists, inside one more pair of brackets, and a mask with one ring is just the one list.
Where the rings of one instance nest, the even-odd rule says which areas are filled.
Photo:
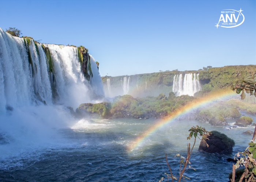
[[104, 95], [94, 58], [86, 79], [78, 54], [76, 47], [37, 43], [0, 28], [0, 112], [42, 103], [77, 107]]

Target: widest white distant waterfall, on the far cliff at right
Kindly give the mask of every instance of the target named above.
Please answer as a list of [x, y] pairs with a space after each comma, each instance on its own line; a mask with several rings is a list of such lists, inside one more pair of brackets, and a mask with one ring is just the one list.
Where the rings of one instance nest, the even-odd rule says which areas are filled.
[[[201, 85], [198, 78], [199, 74], [182, 74], [174, 75], [173, 78], [173, 92], [176, 96], [189, 95], [193, 96], [196, 92], [201, 90]], [[183, 79], [182, 79], [183, 78]]]

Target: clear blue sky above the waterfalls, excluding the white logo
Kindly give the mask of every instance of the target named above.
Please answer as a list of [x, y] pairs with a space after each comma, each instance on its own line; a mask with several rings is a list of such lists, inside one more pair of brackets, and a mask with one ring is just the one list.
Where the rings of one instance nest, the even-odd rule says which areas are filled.
[[[221, 10], [243, 10], [235, 28]], [[255, 0], [0, 0], [0, 27], [89, 49], [101, 76], [256, 64]]]

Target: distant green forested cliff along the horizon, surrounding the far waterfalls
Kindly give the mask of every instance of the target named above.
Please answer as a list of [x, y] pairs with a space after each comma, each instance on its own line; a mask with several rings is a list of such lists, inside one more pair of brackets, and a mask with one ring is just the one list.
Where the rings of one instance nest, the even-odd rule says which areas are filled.
[[[133, 93], [135, 97], [145, 95], [157, 96], [160, 93], [168, 95], [173, 88], [173, 78], [177, 74], [199, 73], [199, 80], [202, 85], [202, 91], [197, 92], [194, 96], [205, 96], [208, 92], [218, 91], [220, 89], [230, 89], [234, 78], [240, 75], [240, 72], [245, 70], [248, 74], [254, 75], [256, 73], [256, 65], [247, 66], [225, 66], [219, 68], [211, 68], [208, 66], [207, 70], [198, 71], [164, 71], [150, 74], [130, 75], [130, 83], [136, 83], [138, 90], [143, 90], [144, 93]], [[106, 80], [110, 79], [112, 88], [120, 88], [124, 76], [103, 76], [102, 83], [106, 85]], [[147, 82], [147, 90], [145, 90]], [[135, 84], [133, 84], [135, 85]]]

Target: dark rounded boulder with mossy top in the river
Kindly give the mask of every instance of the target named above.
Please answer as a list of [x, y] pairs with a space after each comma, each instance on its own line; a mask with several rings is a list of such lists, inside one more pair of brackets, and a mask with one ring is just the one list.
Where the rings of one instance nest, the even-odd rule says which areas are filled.
[[[203, 136], [203, 139], [199, 146], [199, 151], [205, 151], [208, 153], [230, 154], [235, 146], [234, 140], [227, 137], [218, 131], [211, 131], [210, 136]], [[207, 147], [206, 143], [209, 145]]]

